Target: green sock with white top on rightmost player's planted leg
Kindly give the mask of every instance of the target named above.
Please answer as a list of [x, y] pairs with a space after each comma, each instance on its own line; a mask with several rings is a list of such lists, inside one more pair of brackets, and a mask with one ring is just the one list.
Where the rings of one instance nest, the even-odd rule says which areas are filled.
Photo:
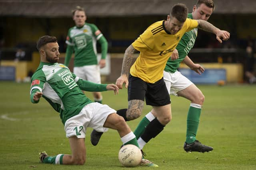
[[199, 119], [202, 106], [190, 104], [187, 117], [186, 143], [190, 144], [196, 141], [196, 133], [199, 125]]

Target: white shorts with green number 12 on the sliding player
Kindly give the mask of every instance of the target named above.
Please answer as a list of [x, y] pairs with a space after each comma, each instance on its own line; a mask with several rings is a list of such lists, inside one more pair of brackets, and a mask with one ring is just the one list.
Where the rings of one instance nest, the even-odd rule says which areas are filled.
[[106, 104], [98, 102], [87, 104], [78, 115], [70, 117], [66, 121], [64, 126], [66, 137], [85, 138], [87, 127], [92, 127], [98, 132], [108, 131], [108, 128], [103, 125], [108, 115], [112, 113], [116, 113], [116, 111]]

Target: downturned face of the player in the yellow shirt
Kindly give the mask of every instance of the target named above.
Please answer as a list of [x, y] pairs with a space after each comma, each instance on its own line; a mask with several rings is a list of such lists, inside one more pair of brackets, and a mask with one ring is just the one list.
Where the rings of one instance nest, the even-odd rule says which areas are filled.
[[167, 16], [167, 21], [166, 21], [166, 29], [169, 31], [171, 34], [176, 34], [180, 29], [182, 28], [184, 22], [178, 21], [175, 17], [170, 18], [170, 16]]

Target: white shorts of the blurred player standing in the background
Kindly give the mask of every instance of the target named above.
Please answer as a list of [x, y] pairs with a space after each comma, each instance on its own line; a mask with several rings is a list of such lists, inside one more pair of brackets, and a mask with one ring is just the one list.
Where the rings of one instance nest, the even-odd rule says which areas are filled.
[[100, 66], [99, 65], [88, 65], [81, 67], [74, 67], [74, 74], [79, 78], [84, 80], [88, 80], [94, 83], [101, 83], [100, 80]]

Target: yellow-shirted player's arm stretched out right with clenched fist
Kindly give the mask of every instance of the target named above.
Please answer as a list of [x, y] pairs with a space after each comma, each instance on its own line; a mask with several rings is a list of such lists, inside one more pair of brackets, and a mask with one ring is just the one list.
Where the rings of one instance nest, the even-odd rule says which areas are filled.
[[222, 40], [226, 41], [230, 37], [230, 33], [228, 31], [220, 30], [211, 23], [204, 20], [197, 20], [198, 28], [204, 31], [208, 31], [210, 33], [214, 33], [216, 35], [216, 39], [222, 43]]

